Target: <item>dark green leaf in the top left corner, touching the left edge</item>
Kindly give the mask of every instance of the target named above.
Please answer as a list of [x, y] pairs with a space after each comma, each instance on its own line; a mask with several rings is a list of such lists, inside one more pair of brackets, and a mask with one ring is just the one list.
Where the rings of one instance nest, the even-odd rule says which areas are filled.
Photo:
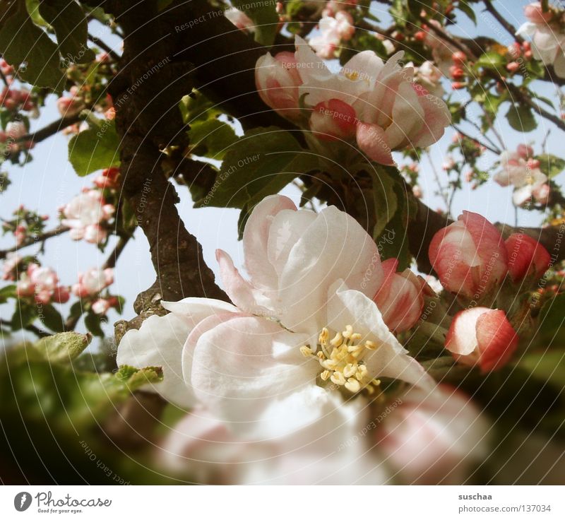
[[28, 83], [60, 92], [64, 73], [59, 69], [57, 45], [32, 22], [25, 2], [8, 6], [1, 21], [0, 52], [4, 59], [15, 67], [25, 64], [19, 73]]

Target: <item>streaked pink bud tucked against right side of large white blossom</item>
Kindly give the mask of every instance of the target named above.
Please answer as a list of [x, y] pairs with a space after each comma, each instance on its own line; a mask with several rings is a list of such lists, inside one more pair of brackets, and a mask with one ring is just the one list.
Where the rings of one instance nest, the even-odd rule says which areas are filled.
[[410, 269], [396, 273], [396, 258], [383, 261], [381, 266], [384, 280], [373, 299], [383, 315], [383, 321], [393, 332], [411, 329], [424, 308], [424, 282]]

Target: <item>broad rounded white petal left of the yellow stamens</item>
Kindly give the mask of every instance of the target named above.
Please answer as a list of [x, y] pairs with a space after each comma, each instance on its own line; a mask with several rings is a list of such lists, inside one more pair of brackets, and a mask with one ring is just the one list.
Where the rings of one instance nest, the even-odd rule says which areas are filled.
[[[234, 432], [264, 438], [270, 431], [269, 420], [261, 420], [266, 408], [315, 384], [319, 363], [299, 351], [306, 339], [261, 318], [238, 317], [219, 324], [196, 343], [194, 391], [213, 413], [230, 421]], [[287, 431], [307, 418], [295, 419]]]

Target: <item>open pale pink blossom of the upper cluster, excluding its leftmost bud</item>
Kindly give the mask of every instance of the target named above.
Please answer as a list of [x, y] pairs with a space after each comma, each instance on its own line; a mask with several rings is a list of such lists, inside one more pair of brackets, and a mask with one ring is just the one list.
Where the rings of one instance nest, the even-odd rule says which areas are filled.
[[400, 67], [403, 52], [386, 64], [374, 52], [360, 52], [333, 74], [299, 36], [296, 47], [299, 98], [312, 109], [308, 126], [314, 133], [337, 124], [340, 138], [357, 141], [372, 160], [392, 164], [391, 150], [429, 146], [451, 122], [445, 103], [412, 83], [412, 68]]

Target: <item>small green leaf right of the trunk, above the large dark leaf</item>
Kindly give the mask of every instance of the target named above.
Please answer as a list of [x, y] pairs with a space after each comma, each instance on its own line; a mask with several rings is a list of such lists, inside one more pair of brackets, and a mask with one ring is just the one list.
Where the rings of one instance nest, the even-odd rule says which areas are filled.
[[216, 160], [222, 160], [238, 139], [232, 126], [218, 119], [191, 124], [189, 138], [191, 153]]

